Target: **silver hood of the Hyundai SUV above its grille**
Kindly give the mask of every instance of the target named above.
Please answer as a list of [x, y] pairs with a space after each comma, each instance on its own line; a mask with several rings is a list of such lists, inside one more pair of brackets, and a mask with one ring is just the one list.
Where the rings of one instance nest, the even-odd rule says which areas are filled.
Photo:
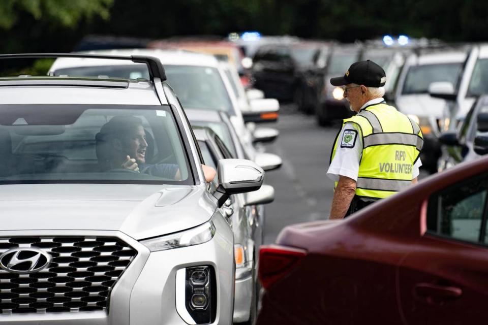
[[2, 231], [111, 230], [140, 240], [202, 224], [215, 209], [203, 185], [0, 186]]

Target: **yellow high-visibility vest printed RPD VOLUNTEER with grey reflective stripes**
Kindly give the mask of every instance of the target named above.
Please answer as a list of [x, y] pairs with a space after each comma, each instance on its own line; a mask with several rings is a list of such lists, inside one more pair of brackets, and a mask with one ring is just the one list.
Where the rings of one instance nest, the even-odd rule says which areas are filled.
[[[423, 146], [417, 123], [384, 102], [363, 108], [345, 119], [343, 127], [348, 122], [358, 126], [361, 137], [356, 141], [363, 145], [356, 196], [384, 199], [408, 187], [413, 164]], [[334, 142], [331, 162], [338, 143], [343, 141], [340, 134], [341, 131]]]

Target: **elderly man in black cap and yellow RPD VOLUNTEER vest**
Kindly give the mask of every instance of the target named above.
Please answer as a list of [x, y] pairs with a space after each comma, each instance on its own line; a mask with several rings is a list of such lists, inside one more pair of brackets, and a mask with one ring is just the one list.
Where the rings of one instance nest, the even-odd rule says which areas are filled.
[[330, 79], [343, 86], [357, 113], [344, 120], [332, 148], [330, 219], [344, 218], [417, 182], [422, 134], [413, 120], [386, 105], [385, 82], [384, 70], [371, 60], [355, 62], [344, 77]]

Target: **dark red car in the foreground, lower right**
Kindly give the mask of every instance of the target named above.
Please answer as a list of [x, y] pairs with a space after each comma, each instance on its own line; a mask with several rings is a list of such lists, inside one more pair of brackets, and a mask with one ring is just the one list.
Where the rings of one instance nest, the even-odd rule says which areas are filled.
[[262, 246], [259, 325], [488, 320], [488, 157]]

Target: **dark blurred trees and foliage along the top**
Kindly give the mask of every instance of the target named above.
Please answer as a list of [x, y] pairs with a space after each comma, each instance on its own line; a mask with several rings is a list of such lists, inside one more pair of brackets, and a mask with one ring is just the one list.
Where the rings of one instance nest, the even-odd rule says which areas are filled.
[[146, 39], [259, 30], [343, 42], [384, 34], [485, 41], [475, 0], [0, 0], [0, 52], [71, 51], [85, 35]]

